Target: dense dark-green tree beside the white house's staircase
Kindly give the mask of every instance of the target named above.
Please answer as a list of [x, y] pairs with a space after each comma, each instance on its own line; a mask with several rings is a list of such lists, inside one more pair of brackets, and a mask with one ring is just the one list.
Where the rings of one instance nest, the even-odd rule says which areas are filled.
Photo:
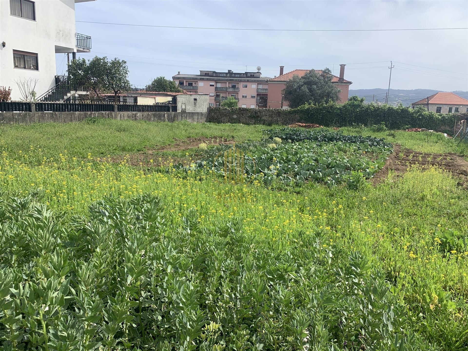
[[111, 61], [97, 56], [88, 61], [76, 59], [68, 66], [68, 74], [73, 86], [87, 87], [98, 97], [112, 92], [116, 102], [117, 95], [130, 89], [127, 62], [117, 58]]

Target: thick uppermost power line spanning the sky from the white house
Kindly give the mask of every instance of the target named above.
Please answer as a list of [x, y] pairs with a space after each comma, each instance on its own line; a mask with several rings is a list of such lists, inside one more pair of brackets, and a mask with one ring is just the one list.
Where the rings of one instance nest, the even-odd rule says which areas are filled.
[[266, 30], [266, 31], [284, 31], [284, 32], [372, 32], [372, 31], [397, 31], [397, 30], [448, 30], [448, 29], [468, 29], [467, 28], [399, 28], [399, 29], [267, 29], [267, 28], [211, 28], [211, 27], [182, 27], [182, 26], [156, 26], [150, 24], [132, 24], [132, 23], [110, 23], [110, 22], [90, 22], [76, 21], [81, 23], [110, 24], [116, 26], [134, 26], [134, 27], [156, 27], [156, 28], [181, 28], [181, 29], [215, 29], [215, 30]]

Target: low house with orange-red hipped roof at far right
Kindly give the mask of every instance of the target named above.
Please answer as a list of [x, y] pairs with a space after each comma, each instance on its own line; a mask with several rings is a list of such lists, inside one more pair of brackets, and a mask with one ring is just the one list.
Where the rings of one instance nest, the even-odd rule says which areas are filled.
[[411, 107], [423, 105], [428, 111], [436, 113], [468, 112], [468, 100], [453, 93], [437, 93], [413, 102]]

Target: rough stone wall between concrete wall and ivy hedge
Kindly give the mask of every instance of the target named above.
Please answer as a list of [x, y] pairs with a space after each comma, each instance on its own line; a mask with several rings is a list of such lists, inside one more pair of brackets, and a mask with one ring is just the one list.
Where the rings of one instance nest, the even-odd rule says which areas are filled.
[[208, 122], [241, 124], [291, 124], [304, 123], [293, 110], [281, 109], [246, 109], [215, 107], [208, 111]]

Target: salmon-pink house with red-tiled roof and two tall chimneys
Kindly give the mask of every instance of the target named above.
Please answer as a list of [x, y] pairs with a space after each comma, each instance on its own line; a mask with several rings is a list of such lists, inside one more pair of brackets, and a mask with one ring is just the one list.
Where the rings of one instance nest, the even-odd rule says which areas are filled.
[[[340, 65], [340, 76], [333, 76], [331, 82], [336, 84], [340, 88], [340, 100], [336, 103], [344, 103], [348, 101], [349, 86], [352, 84], [351, 81], [344, 79], [344, 66]], [[288, 102], [283, 98], [281, 90], [286, 86], [286, 82], [295, 75], [302, 77], [304, 74], [310, 72], [307, 69], [295, 69], [294, 71], [284, 73], [284, 66], [279, 66], [279, 76], [268, 80], [268, 108], [270, 109], [285, 109], [288, 107]], [[322, 70], [315, 70], [318, 74], [322, 73]]]

